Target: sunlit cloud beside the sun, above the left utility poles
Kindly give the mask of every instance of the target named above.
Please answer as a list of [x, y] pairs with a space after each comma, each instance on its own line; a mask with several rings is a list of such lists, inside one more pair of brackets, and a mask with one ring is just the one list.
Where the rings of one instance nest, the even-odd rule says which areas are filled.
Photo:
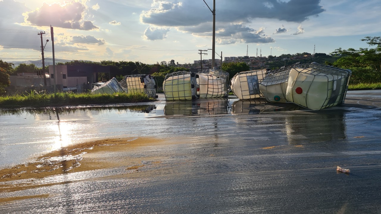
[[99, 27], [84, 19], [87, 6], [81, 2], [70, 2], [65, 5], [43, 3], [41, 8], [26, 14], [26, 21], [35, 26], [54, 26], [67, 29], [93, 30]]

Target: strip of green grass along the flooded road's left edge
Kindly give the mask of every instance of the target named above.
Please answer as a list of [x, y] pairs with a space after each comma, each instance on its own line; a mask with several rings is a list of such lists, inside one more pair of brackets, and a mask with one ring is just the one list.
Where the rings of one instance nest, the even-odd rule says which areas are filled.
[[54, 94], [36, 93], [31, 91], [25, 95], [0, 97], [1, 108], [20, 107], [59, 107], [64, 105], [88, 105], [110, 103], [134, 103], [154, 101], [143, 93], [114, 93], [114, 94], [90, 94], [90, 93], [65, 93]]

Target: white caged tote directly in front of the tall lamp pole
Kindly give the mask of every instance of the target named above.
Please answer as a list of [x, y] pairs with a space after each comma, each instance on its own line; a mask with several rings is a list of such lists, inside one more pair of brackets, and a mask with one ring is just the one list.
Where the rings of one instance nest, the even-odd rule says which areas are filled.
[[228, 79], [229, 73], [218, 69], [197, 73], [197, 96], [200, 98], [226, 97]]

